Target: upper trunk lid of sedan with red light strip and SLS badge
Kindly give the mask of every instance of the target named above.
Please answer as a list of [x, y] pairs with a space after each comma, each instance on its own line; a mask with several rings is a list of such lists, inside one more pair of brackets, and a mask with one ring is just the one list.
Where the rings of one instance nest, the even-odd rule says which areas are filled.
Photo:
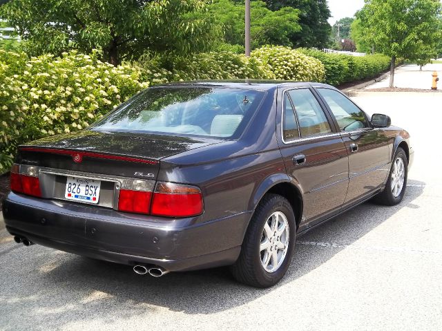
[[17, 161], [51, 169], [155, 179], [162, 158], [216, 142], [144, 133], [80, 131], [22, 145]]

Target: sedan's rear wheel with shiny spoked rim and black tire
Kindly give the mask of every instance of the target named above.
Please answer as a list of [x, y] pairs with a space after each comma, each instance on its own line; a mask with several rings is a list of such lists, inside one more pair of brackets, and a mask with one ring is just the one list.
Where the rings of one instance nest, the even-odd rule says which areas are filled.
[[270, 287], [287, 272], [294, 254], [296, 222], [286, 198], [267, 194], [253, 214], [238, 261], [231, 267], [236, 280]]

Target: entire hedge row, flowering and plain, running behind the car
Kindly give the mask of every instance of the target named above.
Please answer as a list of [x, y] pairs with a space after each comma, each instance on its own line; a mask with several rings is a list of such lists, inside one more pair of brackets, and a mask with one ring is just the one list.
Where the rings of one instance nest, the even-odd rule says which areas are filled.
[[351, 57], [265, 46], [251, 57], [231, 52], [151, 56], [114, 67], [97, 53], [28, 59], [0, 50], [0, 173], [17, 145], [83, 129], [149, 85], [196, 79], [285, 79], [332, 85], [385, 70], [383, 55]]

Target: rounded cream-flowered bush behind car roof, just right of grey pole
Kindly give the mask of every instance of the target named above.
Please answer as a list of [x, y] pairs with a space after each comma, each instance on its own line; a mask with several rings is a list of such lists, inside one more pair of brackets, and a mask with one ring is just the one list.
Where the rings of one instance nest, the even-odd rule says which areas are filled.
[[298, 82], [323, 82], [325, 69], [314, 57], [284, 46], [264, 46], [253, 50], [251, 57], [267, 64], [276, 79]]

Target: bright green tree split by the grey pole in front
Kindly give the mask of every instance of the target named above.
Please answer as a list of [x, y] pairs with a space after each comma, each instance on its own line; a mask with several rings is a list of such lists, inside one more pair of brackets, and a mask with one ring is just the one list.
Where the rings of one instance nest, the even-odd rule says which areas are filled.
[[[214, 0], [209, 13], [222, 24], [224, 41], [244, 46], [244, 3]], [[299, 10], [291, 7], [271, 11], [264, 1], [251, 2], [251, 48], [263, 45], [294, 46], [291, 35], [300, 31]]]

